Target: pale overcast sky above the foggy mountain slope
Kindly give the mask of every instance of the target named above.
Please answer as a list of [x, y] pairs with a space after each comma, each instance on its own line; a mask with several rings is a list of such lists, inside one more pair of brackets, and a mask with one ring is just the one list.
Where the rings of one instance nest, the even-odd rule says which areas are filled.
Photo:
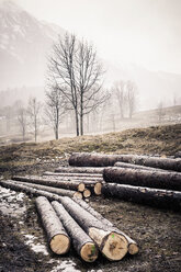
[[181, 73], [181, 0], [13, 0], [109, 60]]

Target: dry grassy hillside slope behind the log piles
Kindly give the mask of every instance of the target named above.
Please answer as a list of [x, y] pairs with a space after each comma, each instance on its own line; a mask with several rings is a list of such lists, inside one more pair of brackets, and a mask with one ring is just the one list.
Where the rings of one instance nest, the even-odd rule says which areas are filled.
[[[71, 152], [148, 154], [174, 156], [181, 150], [181, 124], [127, 129], [97, 136], [61, 138], [39, 144], [0, 147], [0, 171], [4, 174], [44, 171], [57, 167]], [[65, 162], [67, 163], [67, 162]]]

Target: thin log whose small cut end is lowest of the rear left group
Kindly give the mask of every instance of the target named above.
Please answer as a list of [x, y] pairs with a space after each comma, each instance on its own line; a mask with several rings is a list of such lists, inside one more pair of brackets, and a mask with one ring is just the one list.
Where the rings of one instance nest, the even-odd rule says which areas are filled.
[[41, 184], [35, 184], [35, 183], [27, 183], [27, 182], [20, 182], [16, 181], [16, 183], [22, 184], [22, 185], [26, 185], [30, 188], [34, 188], [37, 190], [43, 190], [49, 193], [55, 193], [61, 196], [69, 196], [69, 197], [78, 197], [78, 199], [82, 199], [82, 193], [80, 192], [76, 192], [76, 191], [70, 191], [70, 190], [65, 190], [65, 189], [60, 189], [60, 188], [53, 188], [53, 186], [45, 186], [45, 185], [41, 185]]

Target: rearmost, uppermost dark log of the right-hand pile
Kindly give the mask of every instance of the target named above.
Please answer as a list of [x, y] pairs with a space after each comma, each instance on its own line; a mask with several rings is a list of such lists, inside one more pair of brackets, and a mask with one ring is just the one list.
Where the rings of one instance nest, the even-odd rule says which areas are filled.
[[117, 161], [181, 172], [181, 159], [137, 155], [101, 155], [88, 152], [72, 154], [69, 158], [69, 165], [77, 167], [109, 167], [114, 166], [114, 163]]

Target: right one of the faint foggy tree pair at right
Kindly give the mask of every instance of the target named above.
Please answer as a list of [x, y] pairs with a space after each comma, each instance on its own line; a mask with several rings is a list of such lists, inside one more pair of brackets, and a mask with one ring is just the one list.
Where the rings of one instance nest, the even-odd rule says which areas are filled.
[[136, 109], [136, 84], [131, 80], [126, 82], [126, 99], [128, 106], [128, 117], [132, 118]]

